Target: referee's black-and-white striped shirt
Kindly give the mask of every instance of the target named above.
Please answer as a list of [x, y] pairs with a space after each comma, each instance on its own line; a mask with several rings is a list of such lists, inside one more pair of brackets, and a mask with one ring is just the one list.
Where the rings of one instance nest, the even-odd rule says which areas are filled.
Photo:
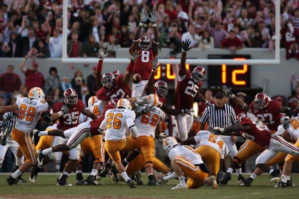
[[200, 119], [200, 123], [205, 124], [208, 122], [208, 127], [225, 128], [232, 125], [236, 119], [234, 108], [229, 104], [224, 104], [222, 109], [216, 107], [215, 104], [207, 106]]

